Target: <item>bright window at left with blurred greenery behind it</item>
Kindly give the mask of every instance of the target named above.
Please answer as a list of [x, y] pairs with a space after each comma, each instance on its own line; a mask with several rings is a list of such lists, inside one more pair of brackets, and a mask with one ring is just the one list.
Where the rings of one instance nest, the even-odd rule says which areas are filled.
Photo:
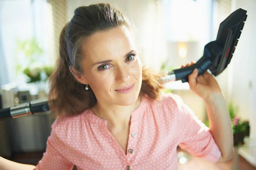
[[53, 57], [51, 6], [46, 0], [0, 1], [0, 85], [16, 82], [28, 87], [22, 70]]

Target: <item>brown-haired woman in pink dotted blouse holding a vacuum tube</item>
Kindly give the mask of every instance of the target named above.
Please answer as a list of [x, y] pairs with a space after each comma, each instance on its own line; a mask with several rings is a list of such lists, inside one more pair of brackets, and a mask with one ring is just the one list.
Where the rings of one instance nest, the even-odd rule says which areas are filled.
[[142, 67], [131, 29], [107, 3], [75, 10], [50, 79], [58, 117], [47, 150], [36, 167], [1, 159], [2, 167], [177, 170], [177, 146], [209, 161], [231, 159], [230, 117], [214, 77], [197, 77], [196, 69], [189, 76], [190, 89], [206, 103], [207, 128], [179, 96], [161, 93], [161, 75]]

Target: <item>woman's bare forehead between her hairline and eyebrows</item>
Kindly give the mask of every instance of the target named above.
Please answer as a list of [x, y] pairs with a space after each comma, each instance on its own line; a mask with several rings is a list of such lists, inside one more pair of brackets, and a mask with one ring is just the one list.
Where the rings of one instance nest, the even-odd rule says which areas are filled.
[[82, 46], [86, 57], [93, 57], [91, 61], [98, 61], [105, 57], [120, 57], [135, 50], [134, 37], [125, 26], [99, 31], [89, 37]]

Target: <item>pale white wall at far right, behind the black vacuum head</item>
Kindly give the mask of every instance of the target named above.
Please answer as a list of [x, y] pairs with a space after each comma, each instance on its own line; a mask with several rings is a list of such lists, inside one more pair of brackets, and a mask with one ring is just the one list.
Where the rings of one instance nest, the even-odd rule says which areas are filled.
[[244, 119], [250, 120], [251, 138], [247, 158], [256, 165], [256, 1], [255, 0], [232, 0], [232, 11], [237, 8], [247, 10], [245, 22], [238, 46], [232, 61], [232, 84], [231, 98], [239, 107], [239, 114]]

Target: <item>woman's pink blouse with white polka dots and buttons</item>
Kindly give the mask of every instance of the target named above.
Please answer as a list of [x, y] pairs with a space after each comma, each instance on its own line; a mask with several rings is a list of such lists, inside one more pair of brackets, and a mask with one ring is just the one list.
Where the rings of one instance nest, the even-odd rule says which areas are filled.
[[175, 94], [142, 97], [131, 113], [127, 154], [106, 125], [90, 109], [57, 118], [35, 170], [177, 170], [178, 145], [208, 161], [221, 156], [209, 128]]

